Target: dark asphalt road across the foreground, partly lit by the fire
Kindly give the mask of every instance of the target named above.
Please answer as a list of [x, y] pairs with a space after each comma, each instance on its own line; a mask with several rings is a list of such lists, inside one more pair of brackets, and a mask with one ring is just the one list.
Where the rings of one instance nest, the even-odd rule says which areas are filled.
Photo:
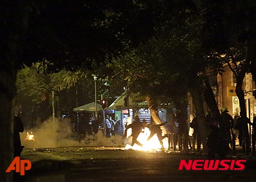
[[32, 163], [25, 181], [256, 181], [256, 167], [247, 162], [242, 171], [179, 170], [181, 160], [205, 155], [122, 148], [63, 147], [25, 149]]

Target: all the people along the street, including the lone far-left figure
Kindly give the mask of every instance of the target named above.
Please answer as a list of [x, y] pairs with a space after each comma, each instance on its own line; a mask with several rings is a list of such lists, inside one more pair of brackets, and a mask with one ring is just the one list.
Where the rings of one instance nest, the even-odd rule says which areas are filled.
[[[137, 138], [142, 132], [142, 129], [147, 127], [150, 131], [150, 134], [147, 138], [147, 141], [156, 134], [159, 139], [160, 145], [164, 148], [163, 139], [168, 138], [169, 148], [174, 150], [188, 150], [195, 148], [194, 142], [191, 145], [191, 137], [189, 136], [189, 127], [193, 128], [192, 138], [196, 141], [196, 149], [201, 150], [202, 144], [203, 147], [208, 147], [208, 155], [211, 158], [214, 158], [216, 155], [221, 157], [225, 156], [229, 151], [231, 151], [235, 146], [235, 140], [239, 140], [239, 146], [245, 150], [245, 145], [248, 145], [247, 135], [248, 124], [252, 125], [252, 137], [255, 138], [255, 126], [256, 126], [256, 117], [253, 119], [253, 123], [247, 117], [240, 117], [238, 113], [235, 113], [234, 117], [229, 115], [229, 111], [226, 107], [220, 109], [220, 117], [212, 117], [210, 111], [207, 111], [205, 116], [206, 126], [204, 129], [207, 133], [206, 146], [204, 146], [204, 141], [202, 138], [202, 124], [199, 125], [199, 119], [195, 115], [191, 122], [187, 122], [187, 117], [182, 113], [181, 110], [177, 109], [174, 111], [174, 117], [172, 121], [155, 124], [147, 123], [146, 120], [141, 121], [138, 115], [133, 116], [133, 121], [131, 124], [127, 124], [123, 127], [123, 122], [118, 116], [115, 120], [111, 116], [105, 115], [104, 117], [98, 116], [96, 119], [93, 118], [93, 115], [80, 113], [79, 122], [77, 122], [77, 129], [74, 129], [74, 132], [78, 133], [78, 139], [81, 142], [85, 139], [86, 135], [93, 135], [99, 131], [100, 128], [104, 128], [106, 131], [106, 137], [110, 138], [114, 135], [126, 136], [127, 129], [131, 128], [131, 137], [132, 142], [131, 146], [134, 144], [143, 146]], [[105, 123], [104, 123], [105, 119]], [[202, 121], [201, 121], [202, 122]], [[172, 123], [172, 124], [171, 124]], [[162, 126], [165, 125], [167, 133], [163, 135]], [[74, 127], [74, 126], [73, 126]], [[22, 151], [21, 141], [19, 138], [19, 132], [24, 131], [24, 126], [21, 119], [18, 116], [14, 117], [14, 155], [19, 156]], [[253, 138], [253, 139], [254, 139]], [[255, 145], [255, 139], [252, 140], [252, 145]], [[172, 143], [172, 146], [170, 146]]]

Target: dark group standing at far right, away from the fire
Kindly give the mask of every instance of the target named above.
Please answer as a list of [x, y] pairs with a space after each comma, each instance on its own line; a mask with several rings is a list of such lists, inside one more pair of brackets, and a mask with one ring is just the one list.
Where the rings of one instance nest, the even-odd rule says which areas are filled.
[[[219, 118], [212, 117], [210, 113], [206, 115], [207, 147], [210, 158], [214, 158], [216, 155], [224, 157], [230, 151], [234, 152], [237, 140], [239, 141], [239, 146], [245, 151], [245, 147], [250, 145], [248, 125], [252, 125], [253, 131], [256, 126], [256, 117], [251, 123], [249, 118], [241, 117], [238, 113], [235, 113], [234, 117], [232, 117], [226, 107], [222, 107], [220, 111]], [[202, 138], [196, 117], [190, 123], [190, 127], [194, 129], [193, 137], [198, 143], [198, 150], [200, 150]], [[253, 132], [252, 138], [255, 138]], [[255, 146], [255, 144], [252, 145]]]

